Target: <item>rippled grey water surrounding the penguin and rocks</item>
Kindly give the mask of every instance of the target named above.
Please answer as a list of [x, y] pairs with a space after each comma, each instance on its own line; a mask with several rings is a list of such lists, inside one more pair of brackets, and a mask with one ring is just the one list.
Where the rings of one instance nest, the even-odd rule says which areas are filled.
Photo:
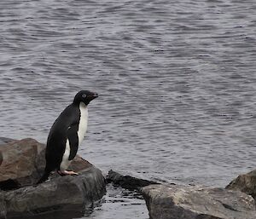
[[[1, 135], [45, 142], [90, 89], [100, 97], [79, 154], [104, 173], [223, 187], [255, 169], [255, 10], [254, 0], [3, 0]], [[148, 218], [144, 205], [138, 216], [107, 199], [86, 218]]]

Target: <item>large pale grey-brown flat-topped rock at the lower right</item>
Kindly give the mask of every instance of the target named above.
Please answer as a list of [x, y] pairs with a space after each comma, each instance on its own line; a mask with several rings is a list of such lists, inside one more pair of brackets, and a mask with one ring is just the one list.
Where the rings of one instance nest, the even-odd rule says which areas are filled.
[[141, 189], [150, 219], [255, 219], [251, 196], [224, 188], [150, 185]]

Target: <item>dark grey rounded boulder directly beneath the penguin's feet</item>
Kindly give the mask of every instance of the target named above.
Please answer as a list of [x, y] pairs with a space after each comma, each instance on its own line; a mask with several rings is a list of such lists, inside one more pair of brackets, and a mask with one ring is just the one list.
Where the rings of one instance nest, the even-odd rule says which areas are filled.
[[37, 187], [4, 193], [8, 218], [29, 217], [50, 211], [83, 213], [105, 193], [102, 172], [91, 166], [79, 176], [55, 177]]

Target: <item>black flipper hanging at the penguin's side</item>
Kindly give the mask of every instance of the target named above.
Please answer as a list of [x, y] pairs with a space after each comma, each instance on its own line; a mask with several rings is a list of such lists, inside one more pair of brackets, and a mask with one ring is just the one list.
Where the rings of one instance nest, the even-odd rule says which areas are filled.
[[70, 154], [68, 157], [69, 160], [72, 160], [78, 153], [78, 149], [79, 149], [79, 135], [77, 132], [78, 129], [79, 129], [79, 124], [73, 124], [67, 130], [67, 139], [70, 145]]

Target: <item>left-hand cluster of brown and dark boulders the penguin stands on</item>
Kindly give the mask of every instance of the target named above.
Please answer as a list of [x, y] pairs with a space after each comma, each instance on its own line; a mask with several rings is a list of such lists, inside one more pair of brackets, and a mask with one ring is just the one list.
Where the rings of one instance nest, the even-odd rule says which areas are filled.
[[50, 216], [57, 213], [58, 218], [73, 218], [93, 207], [106, 193], [102, 172], [78, 155], [70, 169], [79, 172], [79, 176], [53, 174], [48, 182], [36, 187], [35, 182], [44, 172], [45, 146], [33, 139], [24, 139], [10, 141], [0, 149], [3, 153], [0, 187], [5, 190], [0, 192], [0, 219], [5, 215], [19, 219], [44, 218], [47, 213], [51, 213]]

